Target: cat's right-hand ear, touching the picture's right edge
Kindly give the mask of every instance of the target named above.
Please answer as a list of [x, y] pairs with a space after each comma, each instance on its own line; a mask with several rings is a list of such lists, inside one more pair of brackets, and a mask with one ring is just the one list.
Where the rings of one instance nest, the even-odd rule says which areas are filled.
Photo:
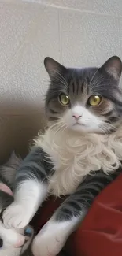
[[113, 76], [115, 80], [119, 80], [122, 72], [122, 62], [118, 56], [113, 56], [102, 65], [101, 69]]

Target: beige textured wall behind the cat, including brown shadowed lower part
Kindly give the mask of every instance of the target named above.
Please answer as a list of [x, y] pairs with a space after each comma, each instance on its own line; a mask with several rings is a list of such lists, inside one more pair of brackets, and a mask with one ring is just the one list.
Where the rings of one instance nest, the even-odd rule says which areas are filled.
[[101, 65], [121, 46], [121, 0], [0, 0], [0, 161], [45, 123], [46, 56]]

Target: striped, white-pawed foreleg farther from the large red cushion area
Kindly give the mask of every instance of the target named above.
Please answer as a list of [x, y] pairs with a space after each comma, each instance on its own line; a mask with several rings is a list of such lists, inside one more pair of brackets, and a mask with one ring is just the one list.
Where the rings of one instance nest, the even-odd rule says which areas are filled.
[[40, 147], [34, 147], [17, 171], [14, 202], [3, 213], [7, 228], [24, 228], [46, 198], [52, 165]]

